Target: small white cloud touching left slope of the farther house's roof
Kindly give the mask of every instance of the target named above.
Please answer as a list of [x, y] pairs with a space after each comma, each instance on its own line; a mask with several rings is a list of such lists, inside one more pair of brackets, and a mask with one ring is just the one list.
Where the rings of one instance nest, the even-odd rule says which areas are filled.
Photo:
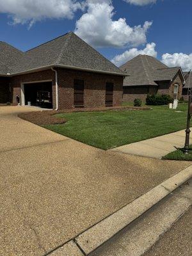
[[138, 50], [137, 48], [132, 48], [129, 51], [125, 51], [123, 54], [116, 55], [113, 60], [111, 60], [116, 66], [120, 67], [127, 61], [131, 60], [132, 58], [138, 56], [139, 54], [147, 54], [149, 56], [157, 57], [156, 52], [156, 44], [151, 43], [147, 44], [145, 49]]

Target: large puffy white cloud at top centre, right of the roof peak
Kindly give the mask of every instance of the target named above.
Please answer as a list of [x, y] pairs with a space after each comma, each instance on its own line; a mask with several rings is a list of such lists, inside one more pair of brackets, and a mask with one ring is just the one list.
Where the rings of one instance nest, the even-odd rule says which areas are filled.
[[124, 47], [144, 44], [152, 22], [131, 27], [126, 19], [113, 20], [114, 7], [110, 0], [87, 0], [87, 12], [76, 22], [75, 33], [95, 47]]

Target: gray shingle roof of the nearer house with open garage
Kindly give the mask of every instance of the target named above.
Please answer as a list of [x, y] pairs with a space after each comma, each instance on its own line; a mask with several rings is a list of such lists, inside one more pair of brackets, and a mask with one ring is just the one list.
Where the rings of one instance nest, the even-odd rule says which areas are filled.
[[[65, 67], [83, 68], [100, 72], [112, 72], [122, 74], [124, 72], [116, 67], [111, 61], [107, 60], [99, 52], [95, 51], [90, 45], [86, 44], [81, 38], [70, 32], [39, 45], [27, 52], [21, 52], [14, 47], [3, 43], [8, 48], [7, 55], [10, 60], [0, 63], [0, 74], [16, 74], [31, 69], [63, 65]], [[1, 49], [1, 44], [0, 44]], [[6, 52], [0, 51], [0, 60], [6, 59]]]

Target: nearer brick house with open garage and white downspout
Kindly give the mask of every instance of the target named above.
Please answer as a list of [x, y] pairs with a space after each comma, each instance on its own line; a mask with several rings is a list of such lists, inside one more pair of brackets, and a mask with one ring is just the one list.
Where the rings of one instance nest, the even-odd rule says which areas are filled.
[[72, 32], [27, 52], [0, 42], [0, 104], [47, 95], [53, 109], [116, 106], [125, 76]]

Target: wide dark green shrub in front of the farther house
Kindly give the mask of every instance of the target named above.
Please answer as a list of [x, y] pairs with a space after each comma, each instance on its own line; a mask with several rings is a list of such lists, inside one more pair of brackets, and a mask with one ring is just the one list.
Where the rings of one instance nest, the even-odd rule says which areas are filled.
[[168, 94], [148, 94], [146, 99], [147, 105], [154, 105], [154, 106], [160, 106], [160, 105], [167, 105], [169, 103], [173, 103], [173, 98]]

